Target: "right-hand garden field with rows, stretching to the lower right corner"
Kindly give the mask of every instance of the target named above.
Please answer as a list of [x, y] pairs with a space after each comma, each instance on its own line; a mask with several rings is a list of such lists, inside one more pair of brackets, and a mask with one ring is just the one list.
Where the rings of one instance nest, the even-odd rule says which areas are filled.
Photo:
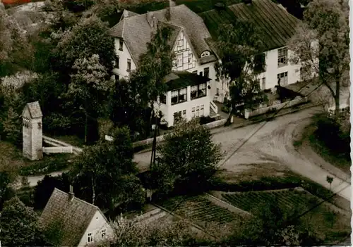
[[[254, 215], [263, 203], [277, 204], [284, 213], [292, 213], [297, 209], [298, 214], [302, 215], [301, 220], [306, 222], [324, 243], [341, 243], [351, 232], [349, 213], [330, 203], [318, 205], [323, 200], [301, 188], [229, 193], [213, 191], [212, 194]], [[318, 206], [314, 207], [316, 205]]]

